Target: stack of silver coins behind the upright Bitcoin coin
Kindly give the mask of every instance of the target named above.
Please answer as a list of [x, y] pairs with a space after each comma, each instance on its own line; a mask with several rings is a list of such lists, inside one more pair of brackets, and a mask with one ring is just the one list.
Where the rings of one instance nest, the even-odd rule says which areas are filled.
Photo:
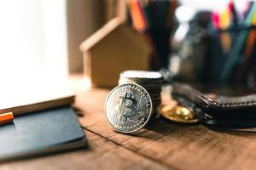
[[119, 85], [125, 83], [139, 84], [148, 91], [153, 104], [153, 116], [158, 117], [161, 104], [161, 85], [164, 77], [157, 71], [123, 71], [119, 75]]

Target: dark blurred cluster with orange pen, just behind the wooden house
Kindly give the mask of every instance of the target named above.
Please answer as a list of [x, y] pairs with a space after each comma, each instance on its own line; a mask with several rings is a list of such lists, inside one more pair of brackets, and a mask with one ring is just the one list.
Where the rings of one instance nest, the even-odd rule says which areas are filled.
[[127, 6], [131, 25], [143, 34], [151, 48], [150, 70], [167, 68], [177, 0], [128, 0]]

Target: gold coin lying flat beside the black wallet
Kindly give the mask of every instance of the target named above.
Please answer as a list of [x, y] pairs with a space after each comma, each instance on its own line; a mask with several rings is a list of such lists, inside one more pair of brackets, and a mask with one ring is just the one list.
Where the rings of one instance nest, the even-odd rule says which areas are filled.
[[173, 122], [195, 123], [199, 117], [180, 105], [166, 105], [159, 110], [160, 115]]

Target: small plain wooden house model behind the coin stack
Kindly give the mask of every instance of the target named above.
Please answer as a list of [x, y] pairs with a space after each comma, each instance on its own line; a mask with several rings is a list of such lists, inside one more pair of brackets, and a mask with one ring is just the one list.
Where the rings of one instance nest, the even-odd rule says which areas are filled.
[[84, 57], [84, 76], [96, 86], [115, 86], [121, 71], [149, 67], [148, 43], [118, 17], [82, 42], [80, 50]]

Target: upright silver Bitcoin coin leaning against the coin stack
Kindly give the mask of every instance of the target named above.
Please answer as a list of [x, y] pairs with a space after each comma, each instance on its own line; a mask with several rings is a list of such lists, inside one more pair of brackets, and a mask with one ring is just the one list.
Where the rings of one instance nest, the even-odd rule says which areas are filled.
[[134, 133], [147, 124], [152, 113], [152, 101], [142, 86], [122, 84], [108, 94], [105, 113], [116, 131]]

